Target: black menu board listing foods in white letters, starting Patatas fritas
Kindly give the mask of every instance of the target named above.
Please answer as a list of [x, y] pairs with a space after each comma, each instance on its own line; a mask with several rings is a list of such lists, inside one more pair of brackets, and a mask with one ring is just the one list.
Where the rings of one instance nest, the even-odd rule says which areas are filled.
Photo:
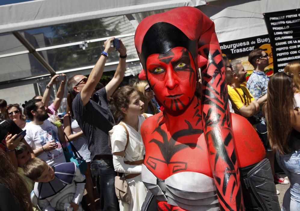
[[300, 9], [264, 13], [270, 36], [274, 72], [287, 63], [300, 60]]

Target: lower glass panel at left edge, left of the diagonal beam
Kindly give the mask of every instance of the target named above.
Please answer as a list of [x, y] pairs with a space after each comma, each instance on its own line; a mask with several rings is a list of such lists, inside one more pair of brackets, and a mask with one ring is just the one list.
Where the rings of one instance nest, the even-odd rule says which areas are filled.
[[31, 54], [0, 58], [0, 81], [47, 74], [48, 71]]

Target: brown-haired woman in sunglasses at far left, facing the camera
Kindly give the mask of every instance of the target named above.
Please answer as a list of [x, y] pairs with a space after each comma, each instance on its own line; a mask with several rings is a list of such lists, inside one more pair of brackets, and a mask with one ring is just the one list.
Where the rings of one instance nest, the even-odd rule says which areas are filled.
[[22, 114], [22, 110], [18, 104], [9, 104], [6, 106], [6, 115], [21, 129], [23, 129], [28, 123], [26, 122], [25, 115]]

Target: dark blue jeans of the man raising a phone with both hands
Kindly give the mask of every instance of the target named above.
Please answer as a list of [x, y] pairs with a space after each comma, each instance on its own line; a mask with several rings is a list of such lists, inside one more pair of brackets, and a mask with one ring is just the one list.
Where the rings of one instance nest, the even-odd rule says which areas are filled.
[[[115, 192], [115, 176], [112, 159], [93, 160], [91, 174], [97, 177], [100, 190], [100, 204], [103, 211], [117, 211], [119, 202]], [[97, 187], [98, 187], [97, 185]]]

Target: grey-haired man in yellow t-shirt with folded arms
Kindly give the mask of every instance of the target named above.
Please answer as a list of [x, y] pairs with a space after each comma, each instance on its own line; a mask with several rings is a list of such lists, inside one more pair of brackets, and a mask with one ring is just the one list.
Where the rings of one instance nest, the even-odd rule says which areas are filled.
[[241, 84], [246, 81], [247, 71], [240, 60], [231, 61], [233, 69], [232, 80], [227, 85], [228, 94], [233, 103], [235, 113], [243, 117], [251, 117], [259, 112], [259, 105], [249, 90]]

